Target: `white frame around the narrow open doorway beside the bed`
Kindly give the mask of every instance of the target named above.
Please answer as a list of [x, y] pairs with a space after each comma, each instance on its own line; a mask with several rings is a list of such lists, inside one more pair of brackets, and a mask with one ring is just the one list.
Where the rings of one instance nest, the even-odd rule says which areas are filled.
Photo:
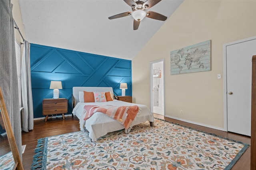
[[[153, 83], [153, 67], [152, 65], [154, 63], [159, 63], [159, 62], [163, 62], [163, 72], [161, 73], [162, 74], [162, 77], [163, 77], [163, 82], [164, 82], [164, 59], [159, 59], [159, 60], [156, 60], [156, 61], [151, 61], [150, 62], [150, 109], [151, 109], [151, 112], [153, 112], [153, 93], [152, 93], [152, 89], [153, 89], [153, 86], [152, 86], [152, 83]], [[164, 99], [164, 116], [165, 116], [165, 83], [163, 84], [163, 99]]]

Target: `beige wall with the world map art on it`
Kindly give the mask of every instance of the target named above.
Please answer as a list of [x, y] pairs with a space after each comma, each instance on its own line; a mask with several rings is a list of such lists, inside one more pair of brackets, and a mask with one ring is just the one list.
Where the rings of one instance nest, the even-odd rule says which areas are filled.
[[[167, 116], [224, 128], [223, 45], [256, 35], [255, 0], [185, 0], [132, 60], [133, 102], [150, 107], [150, 62], [165, 60]], [[212, 40], [212, 70], [170, 75], [170, 51]], [[180, 110], [183, 114], [180, 114]]]

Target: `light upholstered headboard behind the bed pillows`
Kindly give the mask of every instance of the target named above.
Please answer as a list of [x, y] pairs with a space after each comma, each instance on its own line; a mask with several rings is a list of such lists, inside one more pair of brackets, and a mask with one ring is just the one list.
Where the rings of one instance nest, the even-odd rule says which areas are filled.
[[112, 87], [73, 87], [72, 95], [72, 107], [74, 108], [79, 101], [79, 92], [111, 92], [113, 94]]

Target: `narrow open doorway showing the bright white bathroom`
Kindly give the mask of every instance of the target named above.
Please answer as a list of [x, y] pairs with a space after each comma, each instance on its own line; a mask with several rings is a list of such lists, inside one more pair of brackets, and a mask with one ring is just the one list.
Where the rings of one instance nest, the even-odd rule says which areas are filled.
[[164, 59], [150, 62], [151, 111], [164, 115]]

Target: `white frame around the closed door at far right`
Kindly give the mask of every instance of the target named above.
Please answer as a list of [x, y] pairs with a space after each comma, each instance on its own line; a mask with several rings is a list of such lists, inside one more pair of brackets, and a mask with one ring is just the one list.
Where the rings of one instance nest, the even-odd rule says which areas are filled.
[[244, 43], [246, 41], [251, 41], [256, 39], [256, 36], [241, 39], [231, 43], [226, 43], [223, 45], [223, 83], [224, 83], [224, 131], [228, 131], [228, 89], [227, 89], [227, 47], [230, 45], [235, 45], [238, 43]]

